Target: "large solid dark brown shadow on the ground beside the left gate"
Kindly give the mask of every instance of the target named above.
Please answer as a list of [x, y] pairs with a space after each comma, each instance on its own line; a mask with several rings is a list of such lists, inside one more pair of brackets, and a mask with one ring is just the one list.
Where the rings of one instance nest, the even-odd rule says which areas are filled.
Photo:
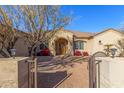
[[61, 80], [67, 77], [67, 71], [54, 73], [40, 73], [38, 72], [38, 88], [53, 88]]

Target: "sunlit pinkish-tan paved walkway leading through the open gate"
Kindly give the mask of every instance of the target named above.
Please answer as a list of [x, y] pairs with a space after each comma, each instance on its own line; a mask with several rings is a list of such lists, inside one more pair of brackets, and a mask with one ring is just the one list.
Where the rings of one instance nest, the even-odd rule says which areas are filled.
[[72, 72], [72, 75], [62, 82], [58, 87], [59, 88], [88, 88], [89, 79], [88, 79], [88, 69], [87, 62], [81, 64], [75, 64], [69, 72]]

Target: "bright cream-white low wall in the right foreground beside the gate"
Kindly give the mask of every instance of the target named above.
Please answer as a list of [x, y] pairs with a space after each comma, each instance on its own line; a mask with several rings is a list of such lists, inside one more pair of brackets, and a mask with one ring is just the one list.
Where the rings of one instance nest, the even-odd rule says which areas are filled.
[[99, 57], [100, 63], [100, 87], [124, 88], [124, 58]]

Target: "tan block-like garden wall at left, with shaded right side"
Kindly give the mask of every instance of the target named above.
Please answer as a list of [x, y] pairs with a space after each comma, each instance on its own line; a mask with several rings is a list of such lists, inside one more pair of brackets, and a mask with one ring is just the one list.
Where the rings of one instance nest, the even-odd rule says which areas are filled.
[[28, 87], [27, 57], [0, 58], [0, 87]]

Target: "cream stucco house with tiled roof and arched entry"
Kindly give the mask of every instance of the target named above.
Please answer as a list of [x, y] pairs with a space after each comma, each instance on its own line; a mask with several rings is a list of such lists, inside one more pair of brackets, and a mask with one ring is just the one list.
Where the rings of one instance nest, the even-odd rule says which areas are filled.
[[[86, 51], [90, 55], [103, 51], [107, 44], [117, 44], [123, 37], [123, 32], [110, 28], [99, 33], [79, 32], [61, 29], [49, 40], [47, 46], [41, 44], [40, 50], [48, 48], [51, 55], [74, 55], [75, 51]], [[114, 47], [114, 46], [113, 46]], [[28, 56], [28, 46], [23, 38], [20, 38], [15, 47], [17, 56]]]

